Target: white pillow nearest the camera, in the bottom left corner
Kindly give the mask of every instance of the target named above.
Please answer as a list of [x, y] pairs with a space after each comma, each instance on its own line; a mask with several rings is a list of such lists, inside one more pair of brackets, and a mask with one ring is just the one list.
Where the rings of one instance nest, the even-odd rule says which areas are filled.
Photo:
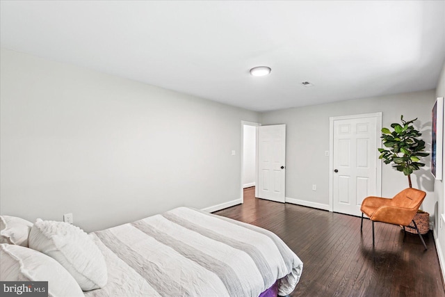
[[45, 281], [49, 296], [84, 296], [76, 280], [55, 259], [23, 246], [0, 246], [2, 281]]

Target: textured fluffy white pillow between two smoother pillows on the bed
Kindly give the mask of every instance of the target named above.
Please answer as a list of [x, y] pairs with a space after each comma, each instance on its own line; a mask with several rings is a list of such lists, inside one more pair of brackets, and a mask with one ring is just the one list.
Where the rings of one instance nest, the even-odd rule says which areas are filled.
[[79, 227], [38, 218], [29, 234], [29, 247], [56, 259], [83, 291], [104, 287], [108, 280], [104, 255]]

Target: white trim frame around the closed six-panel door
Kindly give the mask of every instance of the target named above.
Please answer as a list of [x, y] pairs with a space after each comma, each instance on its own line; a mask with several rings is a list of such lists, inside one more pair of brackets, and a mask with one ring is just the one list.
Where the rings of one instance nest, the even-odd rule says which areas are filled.
[[[352, 120], [355, 118], [377, 118], [376, 122], [376, 143], [380, 147], [382, 144], [382, 138], [380, 138], [382, 131], [382, 112], [378, 113], [362, 113], [358, 115], [343, 115], [329, 118], [329, 211], [334, 211], [334, 120]], [[378, 147], [375, 147], [377, 150]], [[375, 195], [382, 195], [382, 161], [376, 162], [377, 168], [375, 170]]]

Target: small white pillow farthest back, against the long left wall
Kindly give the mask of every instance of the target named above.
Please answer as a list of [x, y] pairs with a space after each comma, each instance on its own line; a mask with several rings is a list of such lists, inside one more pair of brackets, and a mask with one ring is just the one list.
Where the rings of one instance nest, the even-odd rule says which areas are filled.
[[28, 246], [29, 231], [33, 223], [17, 216], [0, 216], [0, 243]]

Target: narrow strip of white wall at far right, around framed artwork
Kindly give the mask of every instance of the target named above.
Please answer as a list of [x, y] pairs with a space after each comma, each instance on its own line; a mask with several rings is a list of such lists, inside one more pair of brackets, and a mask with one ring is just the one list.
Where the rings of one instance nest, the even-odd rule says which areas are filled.
[[[436, 88], [436, 97], [445, 97], [445, 64], [442, 68], [442, 74], [440, 75], [439, 82]], [[445, 139], [445, 138], [444, 138]], [[444, 143], [445, 147], [445, 143]], [[445, 168], [445, 158], [444, 167]], [[436, 180], [434, 186], [435, 192], [435, 230], [434, 235], [436, 239], [437, 254], [439, 255], [440, 264], [442, 267], [442, 276], [445, 280], [445, 206], [444, 206], [444, 193], [445, 182]]]

